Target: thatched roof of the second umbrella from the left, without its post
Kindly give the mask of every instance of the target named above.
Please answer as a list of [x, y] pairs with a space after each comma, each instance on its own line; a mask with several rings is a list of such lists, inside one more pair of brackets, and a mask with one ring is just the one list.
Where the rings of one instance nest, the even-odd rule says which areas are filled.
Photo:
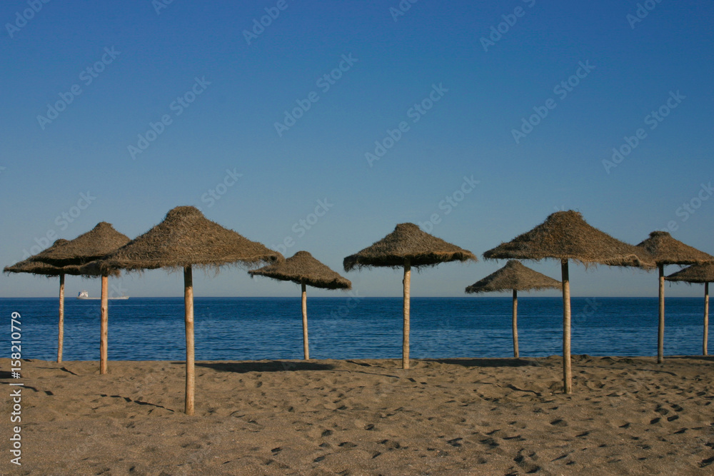
[[[57, 242], [55, 242], [57, 243]], [[56, 266], [84, 265], [104, 258], [116, 248], [129, 243], [129, 237], [102, 221], [90, 231], [58, 246], [51, 246], [31, 259]]]

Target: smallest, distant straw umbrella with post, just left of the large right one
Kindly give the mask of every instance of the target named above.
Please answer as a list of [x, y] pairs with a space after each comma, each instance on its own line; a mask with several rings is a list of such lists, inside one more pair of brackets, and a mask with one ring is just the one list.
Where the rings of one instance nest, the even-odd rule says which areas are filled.
[[466, 293], [491, 293], [513, 290], [513, 357], [518, 358], [518, 291], [560, 288], [560, 281], [549, 278], [520, 261], [510, 260], [503, 268], [466, 287]]

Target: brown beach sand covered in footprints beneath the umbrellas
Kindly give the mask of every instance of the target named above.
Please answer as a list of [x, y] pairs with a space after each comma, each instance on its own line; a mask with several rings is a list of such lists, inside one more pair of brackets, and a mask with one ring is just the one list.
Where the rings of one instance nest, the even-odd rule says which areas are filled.
[[714, 474], [714, 358], [196, 363], [24, 360], [3, 475]]

